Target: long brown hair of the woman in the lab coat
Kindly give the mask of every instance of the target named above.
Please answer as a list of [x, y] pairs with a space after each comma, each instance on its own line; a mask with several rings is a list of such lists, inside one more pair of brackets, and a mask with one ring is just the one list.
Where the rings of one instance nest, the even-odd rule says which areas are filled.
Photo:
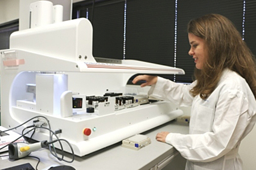
[[217, 87], [222, 71], [228, 68], [246, 80], [256, 98], [255, 58], [229, 19], [218, 14], [204, 15], [188, 23], [188, 33], [205, 40], [207, 54], [203, 69], [195, 70], [193, 96], [207, 99]]

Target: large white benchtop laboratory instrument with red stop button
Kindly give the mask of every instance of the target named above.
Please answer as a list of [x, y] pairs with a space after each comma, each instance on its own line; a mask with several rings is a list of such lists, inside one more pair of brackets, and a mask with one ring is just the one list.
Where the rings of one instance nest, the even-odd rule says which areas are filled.
[[[10, 36], [10, 49], [0, 51], [2, 126], [47, 117], [52, 130], [61, 129], [59, 138], [84, 156], [183, 114], [170, 102], [151, 103], [147, 87], [127, 85], [134, 74], [184, 74], [182, 69], [93, 57], [92, 32], [89, 20], [80, 18]], [[47, 140], [49, 132], [36, 130], [33, 138]]]

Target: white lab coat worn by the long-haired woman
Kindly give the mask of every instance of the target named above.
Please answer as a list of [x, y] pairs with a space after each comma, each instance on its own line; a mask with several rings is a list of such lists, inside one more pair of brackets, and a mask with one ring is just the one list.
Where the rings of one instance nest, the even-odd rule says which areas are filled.
[[187, 170], [242, 169], [238, 148], [256, 120], [256, 101], [250, 87], [228, 69], [207, 100], [189, 93], [195, 84], [177, 84], [158, 77], [151, 86], [148, 94], [153, 97], [192, 106], [189, 134], [170, 133], [166, 142], [187, 159]]

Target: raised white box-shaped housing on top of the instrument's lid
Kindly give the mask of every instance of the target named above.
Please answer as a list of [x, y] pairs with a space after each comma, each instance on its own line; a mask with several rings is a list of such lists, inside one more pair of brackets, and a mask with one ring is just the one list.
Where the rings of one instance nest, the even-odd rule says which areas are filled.
[[10, 48], [72, 61], [96, 62], [92, 56], [92, 33], [88, 19], [68, 20], [14, 32], [10, 36]]

